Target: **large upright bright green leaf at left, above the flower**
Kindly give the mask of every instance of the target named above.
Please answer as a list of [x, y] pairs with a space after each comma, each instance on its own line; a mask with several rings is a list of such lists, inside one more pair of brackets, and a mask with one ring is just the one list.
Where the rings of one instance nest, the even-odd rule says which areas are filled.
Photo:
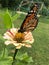
[[4, 14], [3, 21], [6, 29], [12, 28], [11, 15], [9, 14], [8, 11], [6, 11], [6, 13]]

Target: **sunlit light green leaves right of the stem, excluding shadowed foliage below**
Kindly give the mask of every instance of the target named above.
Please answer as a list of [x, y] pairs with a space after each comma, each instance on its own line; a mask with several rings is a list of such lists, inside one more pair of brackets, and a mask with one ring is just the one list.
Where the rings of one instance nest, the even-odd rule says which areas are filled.
[[16, 58], [19, 59], [20, 61], [24, 61], [27, 63], [33, 62], [32, 57], [29, 57], [27, 52], [24, 54], [20, 54], [20, 55], [16, 56]]

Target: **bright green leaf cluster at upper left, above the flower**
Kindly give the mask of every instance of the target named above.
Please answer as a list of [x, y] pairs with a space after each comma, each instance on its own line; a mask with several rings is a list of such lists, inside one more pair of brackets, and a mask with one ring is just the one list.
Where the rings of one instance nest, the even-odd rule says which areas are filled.
[[[0, 13], [1, 14], [1, 13]], [[20, 16], [20, 14], [11, 15], [9, 11], [5, 11], [4, 14], [1, 14], [1, 17], [3, 19], [4, 27], [5, 29], [10, 29], [14, 27], [13, 21], [17, 20], [17, 18]]]

